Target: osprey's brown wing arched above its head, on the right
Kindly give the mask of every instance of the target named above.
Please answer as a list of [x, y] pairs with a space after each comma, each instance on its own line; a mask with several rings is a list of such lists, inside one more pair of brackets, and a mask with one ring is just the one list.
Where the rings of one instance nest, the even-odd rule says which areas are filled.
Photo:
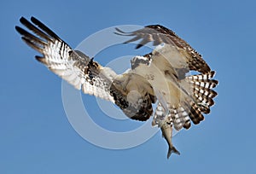
[[[184, 56], [186, 63], [188, 64], [189, 70], [195, 70], [200, 73], [207, 73], [211, 71], [206, 61], [202, 59], [202, 56], [195, 51], [186, 41], [179, 38], [175, 32], [160, 25], [145, 26], [143, 29], [134, 32], [123, 32], [119, 28], [116, 28], [115, 32], [122, 36], [131, 36], [130, 40], [126, 43], [131, 43], [141, 39], [141, 42], [137, 44], [136, 49], [142, 47], [149, 42], [153, 42], [154, 46], [160, 44], [168, 44], [174, 46], [181, 55]], [[167, 59], [169, 59], [167, 57]], [[170, 60], [172, 64], [172, 60]]]

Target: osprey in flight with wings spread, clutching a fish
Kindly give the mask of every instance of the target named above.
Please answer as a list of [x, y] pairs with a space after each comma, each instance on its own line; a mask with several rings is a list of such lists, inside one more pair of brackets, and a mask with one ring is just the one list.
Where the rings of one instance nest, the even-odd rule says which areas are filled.
[[[172, 152], [179, 154], [172, 145], [172, 129], [189, 129], [191, 122], [197, 125], [204, 119], [203, 113], [210, 113], [217, 96], [212, 90], [218, 84], [212, 79], [215, 72], [172, 30], [160, 25], [133, 32], [116, 28], [116, 34], [132, 37], [125, 43], [141, 40], [136, 49], [150, 42], [156, 46], [147, 55], [133, 57], [131, 69], [117, 74], [72, 49], [36, 18], [31, 21], [20, 18], [33, 34], [20, 26], [15, 29], [26, 44], [42, 54], [36, 59], [84, 94], [113, 102], [131, 119], [146, 121], [153, 116], [152, 125], [160, 127], [169, 145], [167, 158]], [[191, 71], [195, 75], [190, 75]]]

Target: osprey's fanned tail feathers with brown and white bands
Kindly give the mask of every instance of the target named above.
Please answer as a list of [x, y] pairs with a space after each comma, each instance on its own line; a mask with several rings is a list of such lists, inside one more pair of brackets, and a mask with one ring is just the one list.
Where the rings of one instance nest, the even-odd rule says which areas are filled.
[[[183, 87], [188, 92], [188, 97], [185, 96], [180, 103], [175, 105], [167, 103], [169, 109], [167, 117], [171, 118], [175, 130], [189, 129], [191, 121], [197, 125], [204, 120], [203, 113], [211, 112], [210, 107], [214, 105], [213, 98], [218, 95], [212, 90], [218, 84], [217, 80], [212, 79], [214, 74], [215, 72], [212, 71], [186, 77]], [[162, 116], [164, 113], [166, 113], [165, 109], [159, 103], [154, 118], [158, 116], [164, 118]], [[154, 122], [153, 125], [155, 125]]]

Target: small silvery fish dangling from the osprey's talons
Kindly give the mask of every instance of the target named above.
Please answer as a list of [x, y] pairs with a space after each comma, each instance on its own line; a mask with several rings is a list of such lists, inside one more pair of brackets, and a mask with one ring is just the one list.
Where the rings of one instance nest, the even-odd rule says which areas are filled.
[[168, 153], [167, 153], [167, 159], [170, 158], [171, 154], [178, 154], [180, 153], [177, 151], [177, 149], [172, 145], [172, 122], [165, 121], [161, 127], [162, 136], [166, 139], [166, 142], [168, 143]]

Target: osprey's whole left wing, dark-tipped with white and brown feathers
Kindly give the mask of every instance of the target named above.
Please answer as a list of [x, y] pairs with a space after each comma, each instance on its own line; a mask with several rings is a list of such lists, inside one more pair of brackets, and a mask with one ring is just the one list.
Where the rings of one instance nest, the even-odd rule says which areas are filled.
[[[26, 44], [42, 54], [42, 56], [37, 55], [36, 59], [50, 71], [65, 79], [76, 89], [82, 89], [85, 94], [115, 103], [131, 119], [144, 121], [151, 116], [152, 100], [148, 93], [132, 101], [129, 100], [129, 93], [124, 90], [126, 83], [122, 84], [122, 82], [127, 80], [130, 82], [129, 79], [134, 77], [132, 73], [117, 75], [110, 68], [102, 67], [82, 52], [73, 50], [36, 18], [32, 17], [31, 21], [20, 18], [21, 24], [33, 34], [26, 32], [20, 26], [15, 28]], [[119, 78], [115, 79], [117, 76]], [[115, 84], [121, 86], [117, 87]]]

